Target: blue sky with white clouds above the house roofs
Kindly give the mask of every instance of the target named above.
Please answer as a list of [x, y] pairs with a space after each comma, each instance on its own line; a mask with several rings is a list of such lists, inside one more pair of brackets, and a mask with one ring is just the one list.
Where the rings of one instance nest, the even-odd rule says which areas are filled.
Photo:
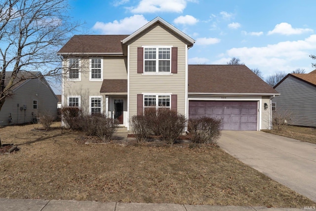
[[315, 0], [70, 0], [75, 34], [131, 34], [160, 16], [196, 43], [189, 64], [237, 57], [265, 77], [315, 63]]

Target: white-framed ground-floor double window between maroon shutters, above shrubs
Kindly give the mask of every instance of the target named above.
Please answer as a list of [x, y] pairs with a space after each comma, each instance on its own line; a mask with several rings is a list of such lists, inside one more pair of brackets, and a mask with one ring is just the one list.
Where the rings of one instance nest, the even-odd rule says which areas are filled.
[[170, 95], [150, 94], [144, 95], [144, 108], [170, 109]]

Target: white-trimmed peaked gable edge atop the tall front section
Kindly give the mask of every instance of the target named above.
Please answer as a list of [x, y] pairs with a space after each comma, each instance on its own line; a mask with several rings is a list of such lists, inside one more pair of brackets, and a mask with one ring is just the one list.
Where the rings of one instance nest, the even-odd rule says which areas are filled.
[[165, 27], [167, 27], [168, 29], [170, 29], [171, 31], [173, 31], [174, 33], [179, 35], [181, 38], [183, 38], [184, 40], [186, 40], [187, 42], [190, 43], [189, 46], [192, 46], [194, 44], [194, 42], [195, 42], [194, 39], [190, 38], [188, 35], [186, 35], [185, 33], [181, 32], [179, 29], [177, 29], [176, 27], [172, 26], [171, 24], [169, 24], [168, 22], [166, 22], [165, 20], [163, 20], [160, 17], [156, 17], [154, 20], [148, 22], [146, 25], [144, 25], [143, 27], [141, 27], [140, 29], [138, 29], [137, 31], [132, 33], [130, 36], [128, 36], [125, 39], [123, 39], [122, 43], [126, 44], [127, 42], [129, 42], [130, 40], [135, 38], [137, 35], [141, 34], [146, 29], [148, 29], [149, 27], [153, 26], [156, 23], [161, 23], [162, 25], [164, 25]]

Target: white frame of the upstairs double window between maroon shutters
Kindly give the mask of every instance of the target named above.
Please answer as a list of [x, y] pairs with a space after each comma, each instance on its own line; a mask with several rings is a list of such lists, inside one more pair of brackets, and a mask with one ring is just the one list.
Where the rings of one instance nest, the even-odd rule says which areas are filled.
[[[172, 56], [172, 45], [143, 45], [143, 74], [144, 75], [151, 75], [151, 74], [160, 74], [160, 75], [171, 75], [171, 56]], [[145, 59], [145, 48], [156, 48], [156, 59]], [[169, 59], [159, 59], [159, 48], [169, 48], [170, 49], [170, 58]], [[156, 72], [146, 72], [145, 71], [145, 61], [152, 61], [156, 60]], [[159, 72], [159, 60], [169, 60], [170, 61], [170, 69], [168, 72]]]

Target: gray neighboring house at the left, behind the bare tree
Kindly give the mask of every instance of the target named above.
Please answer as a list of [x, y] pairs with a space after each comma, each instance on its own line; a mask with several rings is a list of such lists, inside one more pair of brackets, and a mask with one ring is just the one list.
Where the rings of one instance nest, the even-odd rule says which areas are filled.
[[[29, 78], [26, 74], [39, 78], [21, 81], [11, 88], [0, 111], [0, 126], [33, 122], [47, 113], [57, 117], [57, 97], [49, 84], [40, 78], [40, 72], [21, 72], [18, 77]], [[11, 72], [6, 72], [8, 75]]]

